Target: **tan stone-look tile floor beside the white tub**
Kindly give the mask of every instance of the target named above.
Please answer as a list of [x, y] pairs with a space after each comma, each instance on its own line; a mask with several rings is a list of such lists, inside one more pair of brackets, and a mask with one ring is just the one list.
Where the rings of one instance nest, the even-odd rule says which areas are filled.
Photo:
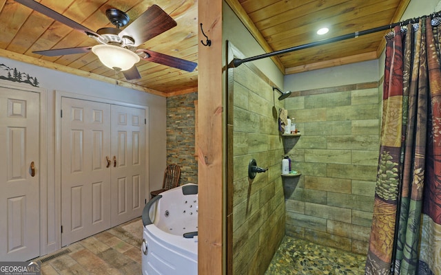
[[42, 256], [41, 274], [141, 274], [142, 236], [141, 219], [128, 221]]

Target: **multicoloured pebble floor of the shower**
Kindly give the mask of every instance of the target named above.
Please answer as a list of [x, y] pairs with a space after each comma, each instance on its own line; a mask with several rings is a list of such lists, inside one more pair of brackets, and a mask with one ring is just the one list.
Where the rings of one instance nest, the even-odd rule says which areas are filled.
[[285, 236], [265, 275], [365, 274], [366, 256]]

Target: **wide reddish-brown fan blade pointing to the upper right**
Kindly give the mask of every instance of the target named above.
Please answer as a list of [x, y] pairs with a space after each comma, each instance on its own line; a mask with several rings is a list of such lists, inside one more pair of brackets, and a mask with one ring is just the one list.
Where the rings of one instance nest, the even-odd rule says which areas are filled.
[[170, 30], [176, 25], [176, 21], [174, 21], [167, 12], [159, 8], [158, 5], [152, 5], [135, 21], [122, 30], [119, 36], [132, 37], [132, 39], [134, 39], [134, 46], [136, 47], [152, 39], [154, 36], [162, 34], [166, 30]]

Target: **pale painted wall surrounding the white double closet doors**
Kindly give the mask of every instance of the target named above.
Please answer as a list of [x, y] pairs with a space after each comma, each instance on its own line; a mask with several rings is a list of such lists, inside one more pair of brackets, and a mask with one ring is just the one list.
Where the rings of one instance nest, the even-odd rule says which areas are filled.
[[[81, 76], [58, 72], [53, 69], [46, 69], [27, 63], [21, 63], [19, 61], [13, 61], [7, 58], [0, 57], [0, 64], [4, 64], [12, 69], [17, 68], [19, 72], [26, 73], [37, 78], [39, 81], [39, 87], [45, 89], [47, 93], [47, 102], [45, 102], [47, 110], [45, 115], [48, 130], [48, 152], [41, 153], [47, 153], [48, 182], [41, 184], [45, 184], [45, 186], [48, 187], [48, 192], [53, 192], [52, 189], [54, 188], [54, 182], [56, 182], [54, 171], [55, 133], [57, 131], [57, 129], [55, 129], [56, 117], [54, 116], [56, 100], [55, 91], [65, 91], [73, 94], [105, 98], [107, 100], [114, 100], [115, 102], [125, 102], [128, 104], [136, 104], [147, 107], [149, 111], [149, 121], [147, 122], [147, 126], [149, 127], [147, 137], [149, 142], [149, 152], [146, 155], [146, 161], [148, 162], [146, 181], [147, 184], [150, 184], [151, 190], [161, 188], [163, 182], [163, 171], [165, 170], [167, 160], [167, 136], [165, 131], [166, 98], [153, 94], [147, 94], [143, 91], [136, 91], [134, 89], [112, 85], [110, 83], [103, 83], [97, 80], [83, 78]], [[52, 200], [54, 200], [53, 196], [48, 195], [48, 201], [42, 201], [42, 203], [47, 203], [48, 207], [57, 206], [57, 202]], [[48, 212], [52, 211], [48, 210]], [[48, 232], [57, 232], [57, 228], [59, 228], [59, 221], [57, 221], [57, 219], [56, 214], [48, 213], [48, 220], [42, 221], [48, 225]], [[51, 250], [54, 250], [53, 246], [54, 245], [48, 248], [48, 253], [50, 253]], [[58, 246], [59, 248], [59, 244], [55, 246]]]

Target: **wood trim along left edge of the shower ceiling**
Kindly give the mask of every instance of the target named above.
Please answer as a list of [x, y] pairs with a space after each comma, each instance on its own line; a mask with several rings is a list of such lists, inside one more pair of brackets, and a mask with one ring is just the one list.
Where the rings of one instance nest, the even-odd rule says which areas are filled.
[[[247, 12], [243, 9], [242, 5], [238, 2], [238, 0], [225, 0], [230, 8], [232, 8], [233, 12], [239, 18], [239, 20], [245, 25], [245, 28], [252, 34], [254, 39], [256, 39], [257, 43], [259, 43], [260, 47], [263, 47], [265, 52], [274, 52], [274, 49], [269, 46], [263, 35], [259, 32], [256, 25], [254, 25], [253, 21], [249, 18]], [[282, 61], [277, 56], [271, 56], [271, 60], [276, 64], [280, 72], [285, 74], [285, 66]]]

